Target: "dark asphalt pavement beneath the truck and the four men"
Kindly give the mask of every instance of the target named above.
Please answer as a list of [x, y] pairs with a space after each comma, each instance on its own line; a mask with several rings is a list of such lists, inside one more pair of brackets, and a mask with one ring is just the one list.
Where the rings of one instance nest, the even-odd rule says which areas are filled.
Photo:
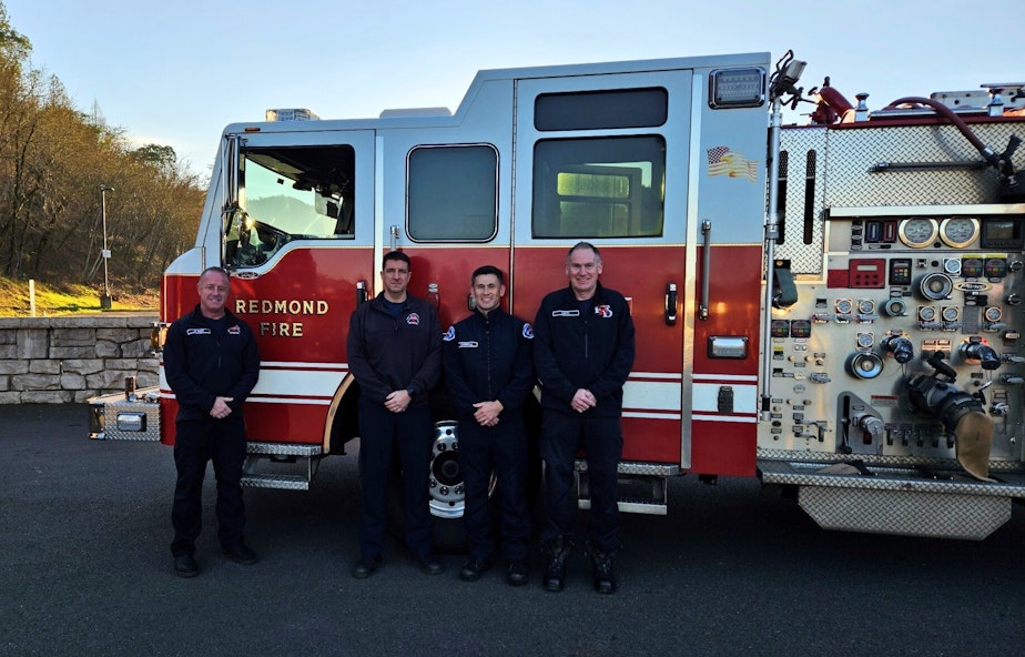
[[[1021, 655], [1025, 509], [982, 542], [820, 529], [755, 479], [679, 477], [668, 516], [623, 516], [619, 593], [511, 588], [500, 569], [422, 574], [356, 556], [356, 456], [311, 491], [246, 491], [248, 543], [221, 556], [213, 475], [201, 573], [174, 575], [171, 449], [90, 441], [88, 407], [0, 406], [0, 655]], [[581, 512], [581, 522], [586, 520]]]

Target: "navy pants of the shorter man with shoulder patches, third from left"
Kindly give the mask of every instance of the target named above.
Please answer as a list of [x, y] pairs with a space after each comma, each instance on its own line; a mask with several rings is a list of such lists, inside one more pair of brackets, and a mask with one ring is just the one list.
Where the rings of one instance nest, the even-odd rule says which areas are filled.
[[503, 418], [480, 426], [473, 417], [459, 420], [459, 471], [466, 486], [463, 525], [471, 558], [483, 560], [495, 550], [488, 487], [497, 476], [501, 556], [527, 560], [530, 518], [527, 515], [527, 435], [522, 422]]

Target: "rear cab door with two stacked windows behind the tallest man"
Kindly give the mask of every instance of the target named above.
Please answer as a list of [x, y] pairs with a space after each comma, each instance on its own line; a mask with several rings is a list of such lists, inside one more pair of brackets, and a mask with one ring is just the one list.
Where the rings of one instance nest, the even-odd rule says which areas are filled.
[[676, 70], [517, 83], [515, 310], [532, 319], [568, 284], [575, 243], [600, 249], [602, 284], [627, 297], [637, 325], [625, 461], [680, 459], [691, 80]]

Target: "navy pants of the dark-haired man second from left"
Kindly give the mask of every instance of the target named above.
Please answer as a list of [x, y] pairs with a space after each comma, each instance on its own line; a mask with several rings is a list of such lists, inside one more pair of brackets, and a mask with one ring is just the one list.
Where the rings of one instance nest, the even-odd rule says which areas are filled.
[[434, 424], [430, 407], [410, 406], [392, 413], [383, 404], [359, 398], [359, 554], [374, 559], [384, 549], [388, 527], [387, 489], [398, 456], [406, 547], [413, 556], [430, 554], [430, 508], [427, 491]]

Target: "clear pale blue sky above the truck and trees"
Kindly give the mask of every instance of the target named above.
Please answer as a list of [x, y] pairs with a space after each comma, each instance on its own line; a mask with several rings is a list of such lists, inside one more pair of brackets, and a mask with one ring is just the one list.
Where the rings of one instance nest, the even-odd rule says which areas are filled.
[[203, 175], [227, 123], [455, 110], [480, 69], [792, 49], [801, 85], [830, 75], [870, 108], [1025, 81], [1023, 0], [0, 2], [79, 109]]

